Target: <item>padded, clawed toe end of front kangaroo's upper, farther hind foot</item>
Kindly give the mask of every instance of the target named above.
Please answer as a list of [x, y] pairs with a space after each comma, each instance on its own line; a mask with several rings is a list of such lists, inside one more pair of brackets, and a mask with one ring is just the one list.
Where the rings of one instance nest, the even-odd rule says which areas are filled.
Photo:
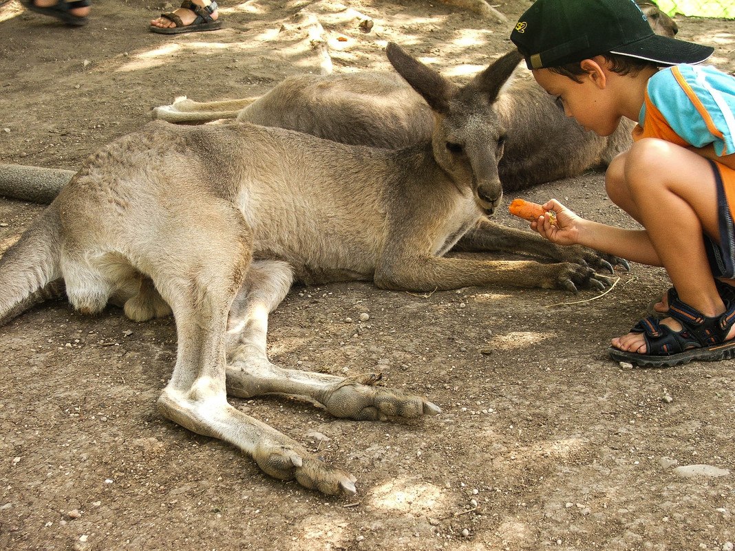
[[319, 397], [334, 417], [349, 417], [357, 421], [385, 421], [390, 417], [420, 417], [435, 415], [441, 409], [426, 398], [401, 390], [373, 386], [380, 375], [358, 375], [347, 378]]

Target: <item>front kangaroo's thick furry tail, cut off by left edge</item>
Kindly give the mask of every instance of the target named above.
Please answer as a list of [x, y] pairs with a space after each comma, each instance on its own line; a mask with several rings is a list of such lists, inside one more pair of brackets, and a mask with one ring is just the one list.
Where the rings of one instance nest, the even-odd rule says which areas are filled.
[[51, 205], [0, 258], [0, 325], [61, 295], [61, 237], [59, 210]]

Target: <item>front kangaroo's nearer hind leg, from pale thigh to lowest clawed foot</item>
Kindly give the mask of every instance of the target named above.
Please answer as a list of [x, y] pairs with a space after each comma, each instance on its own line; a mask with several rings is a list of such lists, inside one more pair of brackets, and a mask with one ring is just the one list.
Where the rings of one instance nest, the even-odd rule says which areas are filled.
[[[166, 254], [153, 259], [150, 271], [173, 310], [178, 338], [176, 365], [159, 397], [159, 411], [190, 431], [229, 442], [273, 477], [295, 478], [328, 494], [353, 493], [354, 480], [346, 472], [321, 467], [325, 464], [300, 444], [227, 402], [227, 324], [250, 269], [250, 234], [234, 208], [198, 202], [196, 211], [176, 233], [162, 231], [171, 239], [161, 245]], [[192, 220], [206, 220], [206, 229], [192, 226]], [[285, 281], [287, 289], [290, 279]], [[310, 474], [325, 469], [331, 476]]]

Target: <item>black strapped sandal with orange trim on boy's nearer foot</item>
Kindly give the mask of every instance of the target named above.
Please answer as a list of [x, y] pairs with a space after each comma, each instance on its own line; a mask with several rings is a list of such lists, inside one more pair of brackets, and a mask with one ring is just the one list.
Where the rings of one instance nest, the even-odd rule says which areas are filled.
[[641, 367], [670, 367], [692, 360], [717, 361], [735, 357], [735, 339], [725, 340], [735, 325], [735, 302], [723, 300], [725, 313], [707, 317], [679, 300], [676, 292], [669, 293], [671, 300], [668, 316], [681, 323], [681, 331], [659, 323], [656, 317], [645, 317], [631, 329], [642, 333], [645, 353], [625, 352], [609, 347], [615, 361], [627, 361]]

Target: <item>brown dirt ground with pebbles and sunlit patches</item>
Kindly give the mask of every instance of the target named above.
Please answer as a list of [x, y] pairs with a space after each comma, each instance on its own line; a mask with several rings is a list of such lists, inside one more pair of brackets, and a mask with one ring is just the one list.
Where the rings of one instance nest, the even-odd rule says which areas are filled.
[[[494, 5], [515, 21], [530, 2]], [[394, 40], [462, 81], [511, 47], [512, 23], [438, 1], [223, 0], [224, 29], [173, 37], [146, 28], [162, 7], [95, 1], [90, 24], [70, 29], [17, 0], [1, 4], [0, 162], [74, 169], [175, 96], [257, 96], [318, 71], [308, 13], [334, 71], [388, 68]], [[374, 22], [368, 33], [361, 14]], [[681, 37], [717, 48], [714, 65], [735, 70], [732, 22], [677, 21]], [[602, 181], [592, 172], [519, 196], [630, 225]], [[0, 250], [41, 209], [0, 200]], [[163, 419], [155, 402], [176, 350], [171, 320], [46, 303], [0, 328], [0, 548], [732, 550], [735, 361], [668, 370], [611, 361], [609, 340], [668, 286], [660, 269], [639, 265], [616, 277], [599, 298], [295, 287], [270, 320], [273, 361], [379, 370], [385, 385], [443, 410], [353, 422], [293, 400], [232, 400], [352, 472], [354, 497], [269, 478]], [[706, 467], [681, 469], [693, 465]]]

